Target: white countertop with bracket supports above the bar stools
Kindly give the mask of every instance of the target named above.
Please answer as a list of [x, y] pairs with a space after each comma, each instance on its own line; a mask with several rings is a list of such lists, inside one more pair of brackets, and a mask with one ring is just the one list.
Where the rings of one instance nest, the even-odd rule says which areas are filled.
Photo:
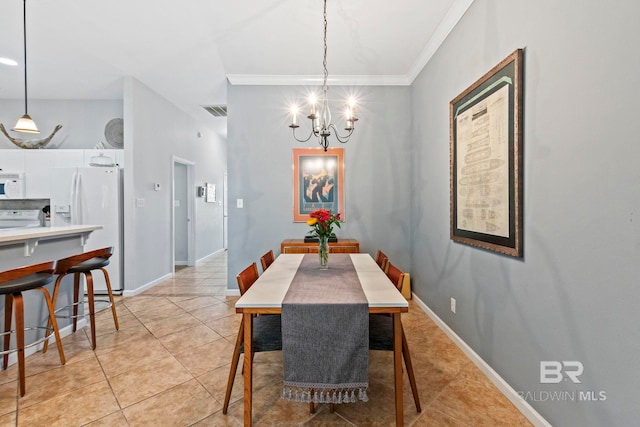
[[80, 246], [84, 246], [89, 234], [101, 228], [101, 225], [7, 228], [0, 230], [0, 246], [24, 244], [24, 256], [31, 256], [41, 240], [78, 236], [80, 238]]

